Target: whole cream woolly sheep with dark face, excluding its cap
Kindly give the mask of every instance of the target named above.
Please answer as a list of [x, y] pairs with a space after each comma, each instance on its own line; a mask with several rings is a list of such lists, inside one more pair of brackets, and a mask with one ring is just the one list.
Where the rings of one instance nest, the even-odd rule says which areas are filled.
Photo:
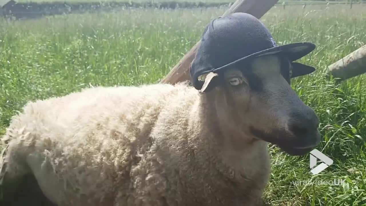
[[318, 118], [280, 57], [249, 66], [207, 74], [209, 91], [95, 87], [27, 103], [2, 138], [2, 205], [34, 196], [57, 206], [260, 205], [268, 143], [306, 154], [319, 143]]

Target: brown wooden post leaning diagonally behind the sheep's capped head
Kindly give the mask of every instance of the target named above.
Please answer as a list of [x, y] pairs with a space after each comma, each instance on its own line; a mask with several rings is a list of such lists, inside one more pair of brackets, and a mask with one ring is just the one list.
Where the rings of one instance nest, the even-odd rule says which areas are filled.
[[[226, 10], [223, 16], [235, 13], [244, 12], [261, 18], [270, 8], [277, 3], [278, 0], [236, 0], [231, 7]], [[194, 59], [196, 50], [201, 41], [198, 41], [191, 50], [183, 56], [175, 67], [164, 77], [161, 82], [175, 84], [177, 82], [189, 80], [189, 66]]]

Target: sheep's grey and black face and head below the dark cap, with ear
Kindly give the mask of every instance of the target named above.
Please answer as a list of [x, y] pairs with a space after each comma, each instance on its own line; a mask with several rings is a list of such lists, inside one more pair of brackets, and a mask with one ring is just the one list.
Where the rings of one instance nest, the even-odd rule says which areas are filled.
[[[201, 92], [215, 103], [220, 122], [288, 154], [303, 155], [320, 142], [319, 120], [292, 90], [291, 75], [302, 74], [292, 71], [288, 60], [260, 56], [247, 65], [209, 73]], [[204, 92], [209, 87], [214, 88]]]

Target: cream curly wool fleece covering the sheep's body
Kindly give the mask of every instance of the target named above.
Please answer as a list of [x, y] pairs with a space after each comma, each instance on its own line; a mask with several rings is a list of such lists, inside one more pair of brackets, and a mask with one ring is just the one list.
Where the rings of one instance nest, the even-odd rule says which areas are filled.
[[59, 206], [255, 205], [267, 144], [227, 155], [210, 104], [186, 83], [30, 102], [3, 137], [8, 181], [32, 173]]

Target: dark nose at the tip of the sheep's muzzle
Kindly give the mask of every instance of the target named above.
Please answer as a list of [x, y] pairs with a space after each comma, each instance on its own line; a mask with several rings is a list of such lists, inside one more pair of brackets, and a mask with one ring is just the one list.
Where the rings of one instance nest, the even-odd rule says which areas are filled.
[[310, 107], [301, 113], [293, 112], [290, 117], [287, 129], [295, 136], [299, 145], [313, 147], [320, 142], [319, 119]]

